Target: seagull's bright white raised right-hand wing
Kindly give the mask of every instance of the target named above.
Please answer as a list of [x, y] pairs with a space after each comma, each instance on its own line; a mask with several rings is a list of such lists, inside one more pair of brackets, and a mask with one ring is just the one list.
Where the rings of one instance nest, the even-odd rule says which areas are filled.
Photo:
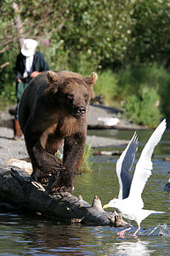
[[163, 119], [160, 125], [152, 133], [149, 141], [144, 146], [144, 149], [139, 157], [135, 171], [133, 173], [133, 180], [131, 183], [130, 193], [128, 198], [133, 200], [139, 207], [144, 207], [141, 194], [144, 190], [144, 185], [151, 175], [152, 162], [151, 156], [157, 143], [160, 142], [163, 132], [166, 130], [166, 119]]

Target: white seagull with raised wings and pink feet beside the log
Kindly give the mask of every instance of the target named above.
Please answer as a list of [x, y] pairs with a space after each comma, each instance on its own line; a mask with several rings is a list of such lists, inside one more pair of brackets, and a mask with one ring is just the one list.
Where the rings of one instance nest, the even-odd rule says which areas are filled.
[[[111, 200], [103, 208], [113, 207], [123, 218], [136, 221], [138, 229], [133, 233], [133, 236], [136, 236], [137, 232], [140, 230], [140, 224], [144, 218], [147, 218], [151, 213], [164, 213], [144, 210], [144, 202], [141, 194], [144, 190], [145, 183], [151, 175], [151, 156], [157, 143], [160, 142], [166, 127], [166, 119], [163, 119], [144, 146], [133, 172], [133, 177], [129, 172], [133, 166], [135, 153], [138, 148], [138, 137], [136, 136], [136, 133], [134, 133], [127, 148], [122, 152], [122, 155], [116, 162], [116, 174], [119, 182], [118, 199], [115, 198]], [[123, 236], [125, 231], [130, 229], [131, 227], [122, 230], [117, 235]]]

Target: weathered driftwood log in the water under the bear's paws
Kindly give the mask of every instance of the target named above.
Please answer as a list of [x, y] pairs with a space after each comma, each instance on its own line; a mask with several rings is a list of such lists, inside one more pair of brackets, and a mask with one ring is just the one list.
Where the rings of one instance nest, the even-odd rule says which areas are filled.
[[48, 191], [31, 179], [28, 172], [17, 166], [0, 166], [0, 200], [27, 212], [65, 220], [69, 223], [125, 226], [127, 223], [113, 212], [105, 212], [98, 196], [92, 205], [70, 193], [49, 195]]

